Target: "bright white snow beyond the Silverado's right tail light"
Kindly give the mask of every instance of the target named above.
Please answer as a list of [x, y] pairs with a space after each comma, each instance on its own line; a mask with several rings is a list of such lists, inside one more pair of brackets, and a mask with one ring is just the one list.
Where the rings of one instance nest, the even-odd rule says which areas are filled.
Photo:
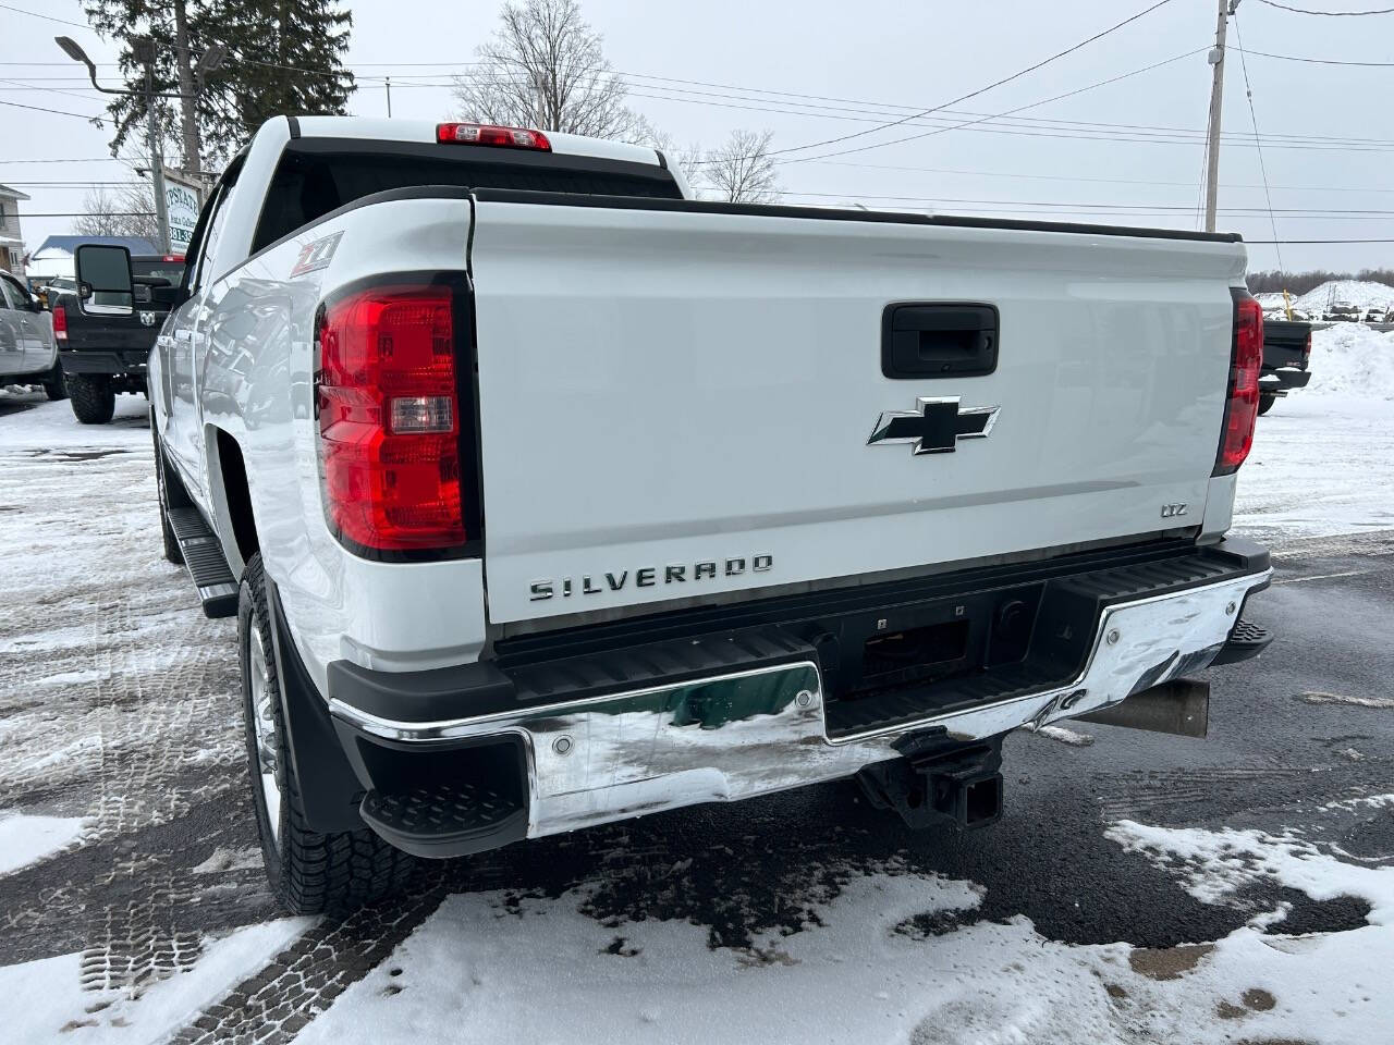
[[1239, 470], [1235, 525], [1260, 541], [1394, 527], [1394, 332], [1315, 330], [1310, 368]]

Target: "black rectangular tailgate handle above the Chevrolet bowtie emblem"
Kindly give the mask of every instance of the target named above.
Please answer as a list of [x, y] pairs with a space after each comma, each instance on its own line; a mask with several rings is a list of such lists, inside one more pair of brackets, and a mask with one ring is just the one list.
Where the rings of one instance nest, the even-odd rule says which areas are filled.
[[887, 378], [974, 378], [997, 369], [995, 305], [896, 304], [881, 314]]

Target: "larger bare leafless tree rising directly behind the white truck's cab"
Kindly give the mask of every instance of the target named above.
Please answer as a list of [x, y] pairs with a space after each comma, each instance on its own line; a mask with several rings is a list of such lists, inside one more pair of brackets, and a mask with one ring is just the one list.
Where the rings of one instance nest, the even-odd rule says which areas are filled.
[[648, 123], [576, 0], [505, 4], [502, 25], [475, 52], [480, 65], [454, 81], [460, 118], [592, 138], [643, 141]]

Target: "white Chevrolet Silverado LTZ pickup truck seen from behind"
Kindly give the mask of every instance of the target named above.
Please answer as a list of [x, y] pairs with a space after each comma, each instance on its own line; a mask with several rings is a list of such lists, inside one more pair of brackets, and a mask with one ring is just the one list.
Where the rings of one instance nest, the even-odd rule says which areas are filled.
[[[92, 293], [130, 291], [110, 249]], [[700, 202], [654, 149], [269, 121], [149, 387], [164, 550], [238, 617], [277, 896], [848, 776], [976, 826], [1011, 730], [1203, 730], [1184, 676], [1267, 642], [1269, 557], [1225, 538], [1243, 274], [1234, 235]]]

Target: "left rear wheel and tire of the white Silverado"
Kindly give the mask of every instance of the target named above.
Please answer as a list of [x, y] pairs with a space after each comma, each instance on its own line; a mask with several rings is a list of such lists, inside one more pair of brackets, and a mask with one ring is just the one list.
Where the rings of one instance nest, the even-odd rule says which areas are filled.
[[252, 805], [272, 892], [291, 914], [348, 911], [399, 892], [415, 861], [368, 828], [321, 833], [305, 823], [286, 740], [261, 553], [243, 574], [237, 605], [243, 716]]

